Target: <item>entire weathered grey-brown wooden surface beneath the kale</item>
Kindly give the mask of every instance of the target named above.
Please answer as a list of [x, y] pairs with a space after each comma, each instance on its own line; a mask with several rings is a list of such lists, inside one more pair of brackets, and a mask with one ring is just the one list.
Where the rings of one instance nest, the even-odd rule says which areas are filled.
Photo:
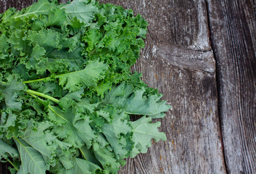
[[[256, 173], [255, 0], [101, 2], [149, 22], [132, 70], [173, 106], [160, 119], [168, 140], [127, 159], [120, 174]], [[0, 0], [0, 12], [31, 3]]]

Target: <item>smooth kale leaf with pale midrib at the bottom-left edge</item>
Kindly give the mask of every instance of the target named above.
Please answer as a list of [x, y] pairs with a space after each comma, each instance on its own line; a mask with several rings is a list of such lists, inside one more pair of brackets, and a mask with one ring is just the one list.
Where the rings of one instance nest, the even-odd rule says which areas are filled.
[[41, 154], [22, 139], [15, 139], [22, 165], [17, 173], [45, 174], [46, 163]]

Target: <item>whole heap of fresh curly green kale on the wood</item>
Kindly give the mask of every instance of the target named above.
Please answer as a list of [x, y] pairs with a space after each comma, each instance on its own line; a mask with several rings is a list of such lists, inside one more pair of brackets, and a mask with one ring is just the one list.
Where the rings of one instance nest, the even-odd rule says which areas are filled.
[[0, 14], [0, 159], [11, 173], [117, 173], [166, 139], [152, 118], [170, 106], [130, 72], [146, 26], [94, 0]]

